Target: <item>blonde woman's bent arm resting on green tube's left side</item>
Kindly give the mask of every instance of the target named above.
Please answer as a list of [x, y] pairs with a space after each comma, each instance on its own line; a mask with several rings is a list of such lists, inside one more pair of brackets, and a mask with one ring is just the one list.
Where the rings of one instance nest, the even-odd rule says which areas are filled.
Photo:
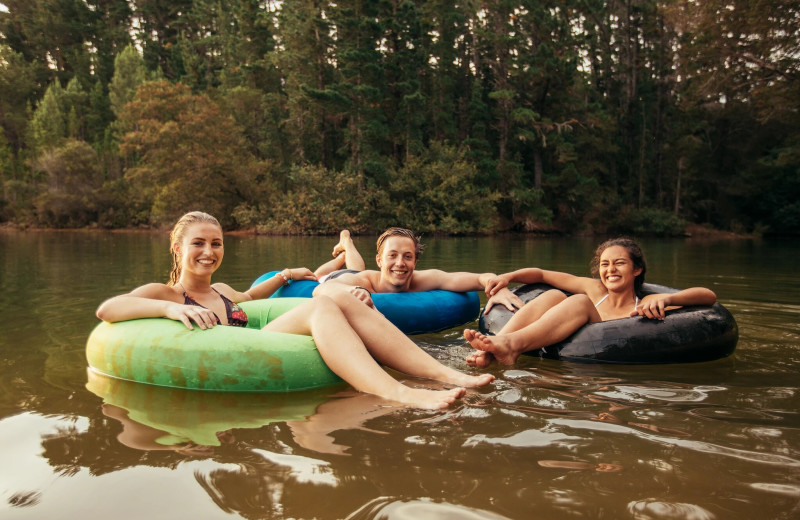
[[192, 329], [192, 322], [201, 329], [216, 325], [217, 317], [204, 307], [184, 305], [175, 290], [162, 283], [143, 285], [127, 294], [109, 298], [97, 308], [103, 321], [136, 320], [140, 318], [169, 318]]

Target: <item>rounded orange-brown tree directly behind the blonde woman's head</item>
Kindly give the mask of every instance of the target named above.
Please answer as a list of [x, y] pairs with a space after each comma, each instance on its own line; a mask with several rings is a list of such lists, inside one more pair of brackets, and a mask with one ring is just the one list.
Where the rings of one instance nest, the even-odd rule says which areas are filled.
[[125, 178], [134, 205], [153, 223], [193, 208], [230, 223], [252, 194], [260, 165], [242, 129], [207, 96], [166, 81], [145, 83], [123, 107], [120, 124], [127, 130], [120, 151], [131, 161]]

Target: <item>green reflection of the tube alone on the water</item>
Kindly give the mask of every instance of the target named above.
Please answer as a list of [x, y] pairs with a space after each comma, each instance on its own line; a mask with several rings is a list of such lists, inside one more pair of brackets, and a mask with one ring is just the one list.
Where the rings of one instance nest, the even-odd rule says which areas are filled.
[[331, 393], [311, 390], [293, 394], [192, 392], [141, 385], [88, 370], [86, 388], [128, 411], [132, 421], [166, 433], [163, 445], [193, 442], [219, 446], [217, 434], [234, 428], [259, 428], [273, 422], [305, 421]]

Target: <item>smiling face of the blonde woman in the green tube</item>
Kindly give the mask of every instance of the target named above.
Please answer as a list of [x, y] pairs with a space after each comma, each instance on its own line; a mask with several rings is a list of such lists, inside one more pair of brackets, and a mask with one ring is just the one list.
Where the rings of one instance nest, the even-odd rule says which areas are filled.
[[225, 255], [222, 228], [211, 222], [190, 224], [173, 248], [180, 258], [182, 273], [210, 277]]

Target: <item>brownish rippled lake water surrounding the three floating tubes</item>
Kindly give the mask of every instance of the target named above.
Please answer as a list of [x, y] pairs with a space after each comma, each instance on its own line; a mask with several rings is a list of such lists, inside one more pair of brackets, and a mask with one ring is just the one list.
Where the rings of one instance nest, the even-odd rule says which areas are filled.
[[[374, 240], [356, 237], [368, 263]], [[495, 272], [588, 274], [595, 246], [424, 241], [421, 268]], [[244, 289], [274, 268], [313, 269], [333, 243], [228, 236], [215, 279]], [[166, 280], [166, 235], [0, 232], [0, 517], [800, 518], [800, 245], [643, 246], [648, 281], [717, 293], [739, 325], [733, 356], [659, 366], [524, 357], [492, 366], [497, 381], [450, 410], [424, 412], [347, 385], [220, 395], [89, 376], [95, 308]], [[414, 339], [467, 368], [459, 329]]]

